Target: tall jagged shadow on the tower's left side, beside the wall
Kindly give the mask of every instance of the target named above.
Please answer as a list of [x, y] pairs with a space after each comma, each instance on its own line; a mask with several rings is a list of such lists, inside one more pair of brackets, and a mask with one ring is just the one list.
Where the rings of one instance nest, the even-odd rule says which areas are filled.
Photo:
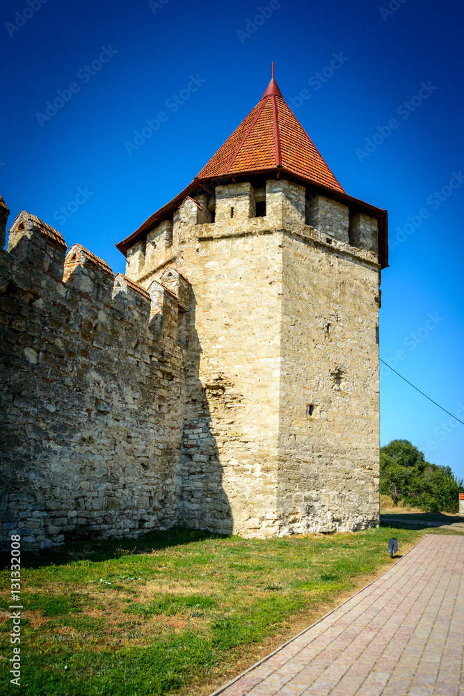
[[[180, 463], [179, 523], [194, 529], [232, 534], [233, 519], [223, 489], [223, 466], [219, 461], [216, 431], [226, 413], [223, 396], [230, 386], [221, 372], [200, 379], [202, 348], [195, 329], [196, 300], [190, 295], [189, 325], [185, 327], [186, 393], [184, 433]], [[224, 412], [223, 412], [224, 411]], [[214, 427], [213, 427], [214, 419]]]

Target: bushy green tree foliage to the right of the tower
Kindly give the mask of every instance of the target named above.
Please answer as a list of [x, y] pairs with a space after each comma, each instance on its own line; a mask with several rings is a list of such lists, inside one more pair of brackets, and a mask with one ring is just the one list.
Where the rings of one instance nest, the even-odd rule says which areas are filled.
[[381, 493], [426, 512], [458, 512], [463, 480], [449, 466], [424, 459], [408, 440], [392, 440], [381, 448]]

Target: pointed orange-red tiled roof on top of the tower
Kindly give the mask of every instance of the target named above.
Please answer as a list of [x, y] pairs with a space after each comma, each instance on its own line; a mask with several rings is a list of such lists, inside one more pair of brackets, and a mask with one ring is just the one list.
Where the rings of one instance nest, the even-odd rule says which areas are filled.
[[345, 193], [272, 78], [261, 100], [198, 173], [198, 179], [282, 169]]

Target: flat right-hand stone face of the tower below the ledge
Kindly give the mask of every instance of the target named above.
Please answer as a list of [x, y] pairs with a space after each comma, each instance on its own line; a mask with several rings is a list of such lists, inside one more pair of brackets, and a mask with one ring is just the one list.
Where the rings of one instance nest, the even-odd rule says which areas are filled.
[[282, 530], [378, 523], [378, 271], [282, 242], [278, 509]]

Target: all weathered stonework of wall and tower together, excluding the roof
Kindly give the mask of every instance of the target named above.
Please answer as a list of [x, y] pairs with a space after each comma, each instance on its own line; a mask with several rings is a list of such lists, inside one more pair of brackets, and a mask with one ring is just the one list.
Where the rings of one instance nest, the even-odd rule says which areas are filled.
[[259, 186], [184, 199], [125, 276], [15, 221], [0, 253], [6, 532], [38, 548], [176, 523], [246, 537], [378, 523], [376, 220], [285, 179]]

